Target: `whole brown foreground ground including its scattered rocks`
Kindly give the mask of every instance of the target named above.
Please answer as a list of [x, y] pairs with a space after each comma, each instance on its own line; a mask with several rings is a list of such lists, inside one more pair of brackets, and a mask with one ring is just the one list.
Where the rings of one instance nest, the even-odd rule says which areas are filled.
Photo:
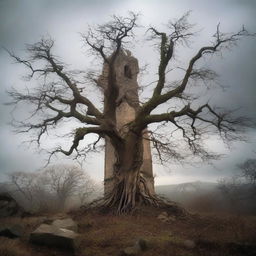
[[[16, 236], [6, 235], [6, 229]], [[7, 232], [7, 234], [10, 234]], [[256, 217], [141, 208], [0, 219], [1, 256], [256, 255]]]

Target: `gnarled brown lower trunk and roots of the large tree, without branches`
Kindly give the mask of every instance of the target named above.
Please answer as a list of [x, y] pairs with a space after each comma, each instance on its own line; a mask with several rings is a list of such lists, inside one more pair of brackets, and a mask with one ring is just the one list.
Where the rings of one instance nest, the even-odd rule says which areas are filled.
[[157, 198], [141, 172], [143, 164], [142, 136], [129, 132], [122, 151], [115, 151], [112, 189], [105, 194], [107, 207], [122, 214], [132, 211], [138, 204], [157, 205]]

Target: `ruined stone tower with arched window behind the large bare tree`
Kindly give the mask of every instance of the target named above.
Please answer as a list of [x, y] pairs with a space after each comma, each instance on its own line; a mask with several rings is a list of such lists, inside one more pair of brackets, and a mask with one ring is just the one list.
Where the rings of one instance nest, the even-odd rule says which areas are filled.
[[[138, 97], [138, 82], [137, 75], [139, 73], [138, 60], [131, 56], [129, 51], [121, 50], [115, 60], [116, 80], [119, 86], [119, 96], [117, 99], [116, 122], [117, 129], [121, 134], [126, 131], [126, 124], [135, 118], [136, 110], [139, 107]], [[102, 75], [99, 77], [98, 83], [105, 87], [108, 77], [108, 65], [104, 64]], [[145, 138], [148, 137], [145, 131]], [[105, 193], [112, 188], [113, 165], [115, 163], [114, 148], [110, 140], [106, 138], [105, 144], [105, 178], [104, 191]], [[141, 173], [147, 181], [148, 188], [154, 193], [154, 178], [152, 168], [152, 156], [150, 149], [150, 141], [143, 139], [143, 164]]]

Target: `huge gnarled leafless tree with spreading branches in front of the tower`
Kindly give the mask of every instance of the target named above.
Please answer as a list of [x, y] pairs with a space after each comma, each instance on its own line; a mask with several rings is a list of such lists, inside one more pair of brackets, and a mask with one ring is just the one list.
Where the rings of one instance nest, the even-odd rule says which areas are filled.
[[[28, 45], [27, 59], [9, 52], [18, 63], [28, 68], [30, 79], [42, 78], [37, 88], [28, 89], [25, 93], [17, 90], [9, 92], [12, 104], [26, 102], [33, 105], [33, 116], [41, 118], [39, 121], [30, 119], [28, 122], [16, 123], [18, 131], [37, 131], [36, 141], [40, 144], [42, 136], [47, 135], [50, 129], [57, 129], [62, 121], [78, 120], [81, 127], [73, 132], [70, 148], [65, 150], [58, 147], [51, 152], [51, 156], [57, 153], [80, 156], [81, 152], [94, 150], [101, 139], [108, 138], [115, 150], [116, 163], [113, 166], [114, 187], [105, 195], [104, 202], [109, 207], [116, 207], [118, 213], [131, 211], [138, 202], [155, 206], [161, 204], [161, 200], [148, 189], [140, 173], [142, 141], [147, 127], [159, 124], [158, 129], [149, 132], [148, 139], [152, 141], [160, 161], [164, 162], [184, 158], [178, 151], [181, 141], [185, 142], [185, 152], [203, 160], [215, 159], [217, 155], [203, 146], [205, 135], [217, 134], [226, 142], [240, 140], [241, 132], [248, 125], [248, 120], [235, 116], [235, 112], [216, 108], [209, 103], [199, 105], [188, 94], [194, 84], [203, 81], [207, 85], [216, 77], [213, 70], [200, 67], [200, 60], [234, 46], [243, 37], [251, 36], [244, 27], [236, 33], [222, 33], [218, 25], [213, 41], [196, 51], [182, 69], [182, 78], [170, 82], [169, 67], [175, 61], [175, 52], [189, 44], [191, 37], [196, 34], [188, 22], [187, 13], [178, 20], [169, 21], [165, 31], [157, 27], [147, 30], [147, 39], [154, 43], [159, 52], [157, 81], [151, 84], [151, 96], [143, 102], [140, 100], [134, 120], [121, 133], [116, 124], [116, 109], [121, 92], [115, 62], [120, 52], [127, 49], [136, 38], [137, 20], [138, 15], [134, 13], [128, 17], [113, 16], [111, 21], [82, 34], [85, 45], [108, 67], [105, 87], [98, 83], [92, 72], [89, 72], [86, 84], [81, 84], [75, 76], [78, 72], [69, 71], [54, 55], [54, 42], [51, 39]], [[127, 77], [131, 75], [128, 69], [125, 72]], [[95, 97], [88, 93], [88, 83], [92, 83], [104, 95], [105, 101], [100, 107]], [[197, 96], [200, 97], [200, 94]], [[165, 135], [160, 133], [163, 126], [163, 130], [168, 131]], [[97, 135], [95, 143], [81, 147], [84, 138], [91, 134]]]

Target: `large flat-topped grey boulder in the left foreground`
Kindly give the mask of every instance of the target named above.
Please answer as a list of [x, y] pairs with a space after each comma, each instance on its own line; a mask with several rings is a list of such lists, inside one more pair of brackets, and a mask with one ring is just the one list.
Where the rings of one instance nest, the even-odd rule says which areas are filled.
[[30, 234], [29, 240], [35, 244], [74, 250], [74, 243], [77, 236], [78, 234], [72, 230], [58, 228], [54, 225], [41, 224]]

